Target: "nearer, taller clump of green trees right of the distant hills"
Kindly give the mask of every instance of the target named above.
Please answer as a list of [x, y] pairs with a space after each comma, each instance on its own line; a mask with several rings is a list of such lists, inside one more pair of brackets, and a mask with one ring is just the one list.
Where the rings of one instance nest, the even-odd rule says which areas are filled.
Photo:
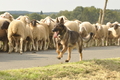
[[[99, 8], [78, 6], [73, 11], [60, 11], [55, 17], [64, 15], [69, 20], [89, 21], [91, 23], [98, 22]], [[120, 22], [120, 10], [106, 10], [104, 24], [107, 22]]]

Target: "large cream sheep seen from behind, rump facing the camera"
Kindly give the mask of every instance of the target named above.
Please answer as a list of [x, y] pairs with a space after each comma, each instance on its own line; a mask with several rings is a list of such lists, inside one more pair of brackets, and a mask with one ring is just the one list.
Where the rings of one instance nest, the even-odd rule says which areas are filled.
[[29, 37], [33, 42], [33, 35], [30, 35], [28, 32], [29, 30], [27, 29], [28, 22], [29, 20], [26, 16], [20, 16], [10, 23], [8, 27], [9, 53], [13, 51], [13, 41], [15, 41], [16, 52], [18, 51], [18, 46], [20, 45], [20, 53], [23, 53], [23, 41], [26, 41], [27, 37]]

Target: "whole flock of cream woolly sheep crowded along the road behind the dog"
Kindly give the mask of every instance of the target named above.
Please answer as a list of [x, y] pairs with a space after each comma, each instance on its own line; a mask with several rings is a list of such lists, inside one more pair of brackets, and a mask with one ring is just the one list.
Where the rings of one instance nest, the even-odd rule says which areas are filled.
[[[64, 25], [77, 31], [82, 37], [86, 37], [93, 32], [93, 38], [84, 47], [91, 46], [109, 46], [120, 45], [120, 27], [118, 22], [91, 24], [90, 22], [81, 22], [79, 20], [70, 21], [65, 16], [58, 19], [64, 19]], [[28, 16], [22, 15], [14, 17], [5, 12], [0, 15], [0, 50], [11, 52], [39, 51], [55, 48], [56, 39], [52, 29], [56, 24], [56, 19], [46, 17], [45, 19], [31, 20]]]

